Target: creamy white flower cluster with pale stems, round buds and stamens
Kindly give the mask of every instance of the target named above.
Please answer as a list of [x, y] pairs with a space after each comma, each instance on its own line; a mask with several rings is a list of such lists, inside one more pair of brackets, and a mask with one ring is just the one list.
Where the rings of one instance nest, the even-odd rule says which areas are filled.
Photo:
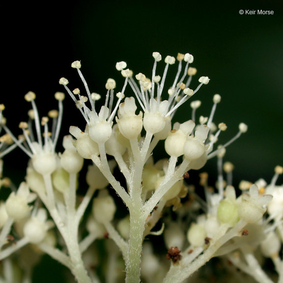
[[[65, 78], [59, 84], [75, 102], [86, 125], [83, 130], [70, 125], [71, 135], [63, 138], [63, 152], [57, 152], [56, 145], [64, 93], [55, 94], [58, 110], [40, 119], [36, 95], [28, 92], [25, 99], [32, 110], [28, 121], [20, 122], [23, 134], [19, 138], [7, 127], [2, 115], [5, 107], [0, 105], [0, 130], [5, 131], [0, 137], [0, 188], [1, 192], [12, 189], [0, 201], [1, 282], [30, 282], [30, 272], [23, 281], [16, 278], [14, 262], [21, 257], [12, 256], [25, 253], [28, 247], [36, 257], [44, 252], [66, 266], [79, 283], [181, 283], [214, 256], [228, 260], [257, 282], [272, 282], [255, 256], [258, 251], [273, 260], [279, 282], [283, 281], [283, 187], [276, 185], [283, 168], [276, 167], [269, 185], [262, 179], [255, 184], [243, 181], [240, 190], [235, 189], [233, 165], [223, 164], [223, 158], [226, 147], [247, 132], [247, 125], [240, 123], [230, 141], [215, 146], [227, 129], [225, 123], [214, 122], [219, 94], [212, 98], [209, 115], [197, 119], [201, 101], [195, 100], [190, 103], [191, 117], [172, 123], [178, 108], [207, 85], [209, 78], [200, 77], [197, 87], [191, 88], [197, 69], [191, 67], [194, 57], [189, 53], [165, 57], [160, 75], [157, 66], [162, 64], [162, 56], [154, 52], [152, 57], [149, 78], [143, 73], [134, 75], [126, 62], [117, 62], [116, 69], [125, 82], [115, 93], [115, 81], [107, 80], [103, 105], [99, 102], [102, 95], [90, 92], [81, 62], [72, 63], [85, 95], [79, 88], [71, 91]], [[167, 85], [169, 69], [176, 61], [176, 75]], [[154, 149], [162, 144], [168, 156], [156, 161]], [[15, 147], [30, 158], [19, 189], [2, 177], [1, 158]], [[188, 171], [201, 169], [212, 157], [217, 157], [218, 180], [211, 189], [208, 174], [200, 174], [202, 199], [189, 185]], [[83, 192], [79, 176], [86, 162], [91, 164], [85, 175], [88, 188]], [[116, 213], [120, 200], [127, 213], [120, 213], [120, 209]], [[92, 207], [87, 209], [90, 203]], [[158, 255], [149, 241], [143, 244], [148, 235], [163, 236], [164, 255]], [[98, 239], [104, 239], [106, 261], [96, 249]], [[35, 264], [25, 266], [29, 271]], [[105, 274], [96, 272], [94, 266]], [[236, 269], [228, 268], [227, 272], [233, 274]], [[237, 276], [244, 278], [243, 274]], [[192, 282], [201, 281], [198, 273], [191, 278]]]

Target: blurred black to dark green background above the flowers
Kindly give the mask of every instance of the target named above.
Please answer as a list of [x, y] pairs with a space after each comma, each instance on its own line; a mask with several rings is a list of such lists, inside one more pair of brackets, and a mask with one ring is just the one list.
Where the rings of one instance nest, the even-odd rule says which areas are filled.
[[[227, 149], [225, 160], [235, 165], [234, 185], [242, 179], [270, 181], [274, 167], [283, 165], [282, 1], [81, 0], [1, 3], [0, 8], [0, 103], [5, 103], [4, 115], [14, 133], [20, 133], [17, 125], [27, 119], [30, 105], [24, 95], [29, 90], [37, 94], [39, 111], [46, 115], [57, 108], [54, 93], [64, 90], [59, 78], [68, 78], [71, 89], [78, 87], [77, 72], [70, 67], [74, 60], [81, 60], [91, 92], [104, 94], [109, 77], [122, 88], [117, 61], [125, 60], [135, 73], [150, 76], [152, 52], [163, 58], [189, 52], [195, 57], [197, 77], [211, 79], [195, 97], [202, 101], [198, 114], [209, 115], [212, 96], [222, 96], [215, 122], [225, 122], [228, 129], [220, 142], [234, 136], [240, 122], [249, 125]], [[240, 9], [273, 10], [274, 15], [240, 15]], [[174, 76], [174, 68], [170, 70]], [[192, 86], [197, 85], [196, 78]], [[183, 106], [175, 121], [190, 119], [187, 108]], [[69, 97], [64, 111], [63, 134], [70, 125], [84, 124]], [[5, 158], [4, 172], [20, 181], [26, 162], [16, 150]], [[215, 165], [211, 160], [206, 167], [212, 175]]]

